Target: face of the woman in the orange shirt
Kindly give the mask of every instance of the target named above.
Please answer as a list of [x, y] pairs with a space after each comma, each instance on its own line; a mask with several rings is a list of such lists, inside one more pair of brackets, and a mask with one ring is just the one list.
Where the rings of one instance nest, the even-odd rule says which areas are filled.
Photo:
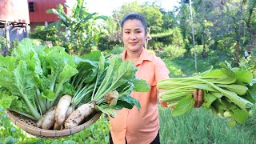
[[146, 41], [146, 31], [142, 22], [129, 19], [122, 26], [122, 42], [127, 50], [137, 52], [142, 50]]

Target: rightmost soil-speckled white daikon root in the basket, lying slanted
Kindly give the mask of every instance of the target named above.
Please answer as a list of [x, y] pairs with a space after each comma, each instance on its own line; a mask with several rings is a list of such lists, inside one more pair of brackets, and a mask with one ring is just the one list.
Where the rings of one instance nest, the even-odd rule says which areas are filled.
[[95, 102], [86, 103], [82, 106], [79, 106], [76, 110], [74, 110], [72, 114], [70, 114], [69, 118], [66, 119], [65, 128], [70, 129], [78, 126], [83, 119], [93, 113], [94, 105]]

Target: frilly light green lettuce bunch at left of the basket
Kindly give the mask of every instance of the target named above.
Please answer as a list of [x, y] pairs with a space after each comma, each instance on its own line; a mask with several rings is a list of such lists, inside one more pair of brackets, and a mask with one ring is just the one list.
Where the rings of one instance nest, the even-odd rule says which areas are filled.
[[69, 82], [77, 60], [63, 47], [46, 49], [24, 38], [11, 56], [0, 55], [0, 106], [38, 121], [62, 94], [74, 93]]

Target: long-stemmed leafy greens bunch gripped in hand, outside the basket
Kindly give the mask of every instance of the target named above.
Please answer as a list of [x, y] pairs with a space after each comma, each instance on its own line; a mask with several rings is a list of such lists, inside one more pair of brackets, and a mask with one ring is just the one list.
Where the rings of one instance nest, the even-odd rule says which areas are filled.
[[246, 59], [239, 67], [231, 67], [228, 62], [220, 63], [222, 69], [210, 69], [189, 78], [167, 78], [158, 82], [162, 102], [174, 106], [173, 116], [185, 114], [194, 107], [193, 90], [204, 92], [202, 106], [214, 114], [227, 118], [230, 125], [245, 123], [250, 109], [256, 102], [256, 81], [246, 69]]

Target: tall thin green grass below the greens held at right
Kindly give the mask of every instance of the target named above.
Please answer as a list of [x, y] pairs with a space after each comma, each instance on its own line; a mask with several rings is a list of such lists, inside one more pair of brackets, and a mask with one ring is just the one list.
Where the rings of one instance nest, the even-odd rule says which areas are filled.
[[256, 143], [256, 126], [228, 126], [226, 120], [199, 108], [178, 117], [159, 107], [160, 138], [169, 143]]

